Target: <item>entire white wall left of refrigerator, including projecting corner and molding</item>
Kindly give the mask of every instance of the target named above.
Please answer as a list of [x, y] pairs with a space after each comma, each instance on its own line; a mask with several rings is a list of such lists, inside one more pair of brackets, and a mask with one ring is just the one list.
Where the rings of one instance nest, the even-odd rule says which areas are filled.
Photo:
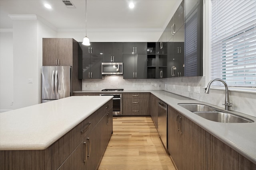
[[40, 103], [42, 37], [56, 31], [39, 20], [13, 20], [12, 33], [0, 35], [0, 112]]

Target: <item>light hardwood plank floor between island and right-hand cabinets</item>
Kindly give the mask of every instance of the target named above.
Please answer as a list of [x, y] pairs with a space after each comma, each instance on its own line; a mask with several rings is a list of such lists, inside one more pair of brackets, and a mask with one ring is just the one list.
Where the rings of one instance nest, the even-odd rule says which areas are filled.
[[99, 170], [175, 170], [151, 117], [114, 117]]

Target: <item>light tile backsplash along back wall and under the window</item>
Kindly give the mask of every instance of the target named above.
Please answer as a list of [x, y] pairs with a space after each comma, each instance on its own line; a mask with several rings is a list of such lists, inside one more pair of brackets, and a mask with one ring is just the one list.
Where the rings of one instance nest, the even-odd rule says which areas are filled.
[[[156, 85], [156, 87], [155, 87]], [[188, 90], [190, 86], [190, 91]], [[102, 79], [85, 79], [82, 90], [102, 90], [105, 88], [123, 88], [125, 90], [165, 90], [220, 107], [224, 106], [225, 91], [211, 89], [205, 91], [205, 77], [177, 77], [165, 79], [123, 79], [123, 76], [104, 76]], [[198, 88], [198, 89], [196, 89]], [[194, 92], [198, 90], [198, 92]], [[256, 93], [236, 92], [230, 90], [232, 110], [256, 117]]]

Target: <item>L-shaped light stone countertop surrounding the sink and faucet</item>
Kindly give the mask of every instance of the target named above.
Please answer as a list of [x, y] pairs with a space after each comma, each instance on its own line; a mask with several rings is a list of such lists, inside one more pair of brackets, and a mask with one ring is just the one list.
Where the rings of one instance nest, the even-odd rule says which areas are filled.
[[[84, 90], [81, 92], [94, 92], [94, 93], [102, 93], [100, 90]], [[206, 104], [208, 106], [215, 107], [217, 109], [224, 110], [224, 107], [215, 106], [212, 104], [208, 104], [206, 102], [201, 102], [198, 100], [194, 100], [191, 98], [179, 96], [170, 92], [166, 92], [164, 90], [124, 90], [121, 93], [140, 93], [140, 92], [150, 92], [158, 97], [160, 100], [172, 106], [174, 109], [188, 117], [191, 121], [208, 131], [214, 137], [218, 138], [220, 141], [236, 150], [238, 153], [242, 154], [248, 160], [252, 161], [256, 164], [256, 117], [246, 115], [236, 111], [229, 111], [236, 115], [241, 115], [243, 117], [247, 117], [252, 119], [254, 123], [218, 123], [215, 121], [210, 121], [204, 119], [191, 111], [181, 107], [178, 103], [200, 103]], [[106, 92], [104, 92], [106, 93]], [[108, 92], [107, 92], [108, 93]], [[120, 93], [120, 92], [114, 92]], [[223, 99], [224, 101], [224, 99]]]

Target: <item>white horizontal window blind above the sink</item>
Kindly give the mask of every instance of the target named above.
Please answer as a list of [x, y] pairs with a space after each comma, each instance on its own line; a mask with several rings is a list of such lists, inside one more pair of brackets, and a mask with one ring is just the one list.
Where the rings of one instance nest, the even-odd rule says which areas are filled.
[[211, 4], [211, 78], [256, 87], [256, 0]]

